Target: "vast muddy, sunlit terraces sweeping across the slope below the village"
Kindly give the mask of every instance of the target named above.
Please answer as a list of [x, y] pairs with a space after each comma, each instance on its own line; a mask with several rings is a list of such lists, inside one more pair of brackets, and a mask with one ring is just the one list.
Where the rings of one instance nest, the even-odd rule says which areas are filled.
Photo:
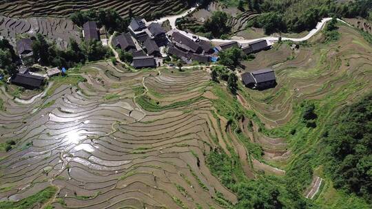
[[[238, 198], [209, 170], [211, 151], [238, 155], [249, 179], [285, 176], [299, 153], [280, 130], [297, 122], [296, 105], [318, 100], [329, 115], [371, 89], [371, 46], [340, 32], [330, 45], [258, 54], [247, 70], [273, 65], [278, 86], [240, 86], [237, 98], [204, 70], [128, 72], [104, 61], [54, 78], [32, 104], [1, 91], [0, 143], [17, 144], [0, 152], [0, 200], [54, 186], [55, 208], [226, 208]], [[78, 76], [85, 81], [69, 85]]]

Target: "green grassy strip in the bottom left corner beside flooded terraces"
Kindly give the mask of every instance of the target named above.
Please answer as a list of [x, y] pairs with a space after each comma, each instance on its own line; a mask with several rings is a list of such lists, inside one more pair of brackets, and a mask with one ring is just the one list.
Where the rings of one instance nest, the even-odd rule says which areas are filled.
[[40, 204], [46, 203], [50, 200], [56, 192], [56, 188], [53, 186], [47, 187], [41, 190], [35, 195], [26, 197], [20, 201], [0, 201], [0, 208], [2, 209], [29, 209], [35, 208]]

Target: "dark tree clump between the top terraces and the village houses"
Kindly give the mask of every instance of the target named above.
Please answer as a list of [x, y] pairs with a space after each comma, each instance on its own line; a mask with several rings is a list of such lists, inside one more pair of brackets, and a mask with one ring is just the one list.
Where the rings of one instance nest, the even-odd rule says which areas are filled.
[[101, 28], [105, 26], [109, 33], [127, 32], [127, 27], [130, 23], [130, 18], [123, 19], [115, 10], [76, 10], [71, 14], [70, 19], [79, 26], [83, 26], [87, 21], [96, 21], [97, 26]]

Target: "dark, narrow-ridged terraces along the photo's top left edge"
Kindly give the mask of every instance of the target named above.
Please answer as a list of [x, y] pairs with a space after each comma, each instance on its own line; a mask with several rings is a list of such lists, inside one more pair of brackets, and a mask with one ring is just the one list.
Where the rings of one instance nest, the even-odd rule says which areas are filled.
[[174, 14], [185, 9], [186, 6], [187, 4], [184, 1], [179, 0], [16, 0], [3, 1], [0, 4], [0, 14], [6, 17], [68, 17], [76, 10], [104, 8], [114, 9], [125, 17], [131, 8], [134, 14], [149, 17], [154, 12], [163, 15]]

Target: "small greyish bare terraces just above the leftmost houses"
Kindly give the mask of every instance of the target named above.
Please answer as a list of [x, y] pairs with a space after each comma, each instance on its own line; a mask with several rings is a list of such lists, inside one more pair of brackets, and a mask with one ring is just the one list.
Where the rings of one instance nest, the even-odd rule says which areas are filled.
[[65, 49], [69, 39], [80, 42], [81, 30], [69, 19], [59, 18], [27, 18], [12, 19], [0, 16], [0, 36], [10, 40], [12, 43], [21, 36], [35, 36], [43, 34], [56, 44]]

